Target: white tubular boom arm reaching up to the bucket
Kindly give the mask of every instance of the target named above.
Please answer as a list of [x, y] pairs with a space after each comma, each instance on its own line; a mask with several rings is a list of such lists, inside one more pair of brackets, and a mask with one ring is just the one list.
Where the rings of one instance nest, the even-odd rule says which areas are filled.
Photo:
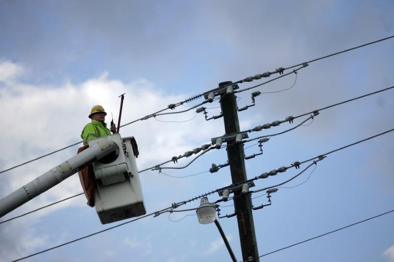
[[117, 145], [110, 137], [104, 137], [98, 143], [88, 147], [43, 175], [38, 176], [33, 181], [0, 200], [0, 217], [59, 184], [86, 165], [106, 156], [116, 147]]

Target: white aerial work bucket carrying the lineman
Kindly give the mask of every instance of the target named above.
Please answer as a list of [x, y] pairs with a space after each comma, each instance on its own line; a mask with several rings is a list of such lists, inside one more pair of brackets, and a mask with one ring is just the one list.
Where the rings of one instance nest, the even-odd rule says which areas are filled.
[[[133, 137], [108, 136], [117, 145], [115, 151], [93, 163], [96, 177], [95, 206], [101, 224], [146, 214], [139, 180]], [[89, 146], [99, 139], [89, 141]], [[134, 147], [136, 148], [136, 147]]]

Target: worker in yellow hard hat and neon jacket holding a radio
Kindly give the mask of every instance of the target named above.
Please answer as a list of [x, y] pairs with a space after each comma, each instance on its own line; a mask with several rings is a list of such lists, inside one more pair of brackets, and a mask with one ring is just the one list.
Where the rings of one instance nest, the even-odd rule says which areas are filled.
[[92, 119], [92, 122], [85, 125], [81, 133], [81, 138], [84, 145], [88, 145], [89, 140], [111, 135], [111, 132], [114, 134], [116, 133], [116, 126], [113, 122], [111, 122], [110, 129], [107, 128], [107, 124], [105, 123], [106, 115], [107, 113], [105, 113], [105, 110], [102, 106], [96, 105], [92, 108], [89, 115], [89, 118]]

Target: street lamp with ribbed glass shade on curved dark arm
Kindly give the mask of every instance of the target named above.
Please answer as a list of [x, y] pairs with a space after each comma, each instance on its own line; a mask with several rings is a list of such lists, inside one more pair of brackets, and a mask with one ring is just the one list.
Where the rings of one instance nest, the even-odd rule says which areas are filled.
[[200, 224], [209, 224], [209, 223], [215, 222], [215, 225], [218, 228], [219, 233], [223, 238], [223, 241], [225, 242], [227, 250], [230, 253], [230, 257], [231, 257], [232, 261], [237, 262], [237, 260], [235, 259], [234, 253], [231, 250], [230, 243], [227, 240], [227, 237], [226, 237], [225, 233], [223, 232], [223, 229], [220, 226], [219, 221], [216, 219], [216, 212], [215, 211], [216, 211], [215, 206], [213, 204], [209, 203], [207, 197], [203, 197], [201, 199], [200, 206], [196, 210], [198, 222]]

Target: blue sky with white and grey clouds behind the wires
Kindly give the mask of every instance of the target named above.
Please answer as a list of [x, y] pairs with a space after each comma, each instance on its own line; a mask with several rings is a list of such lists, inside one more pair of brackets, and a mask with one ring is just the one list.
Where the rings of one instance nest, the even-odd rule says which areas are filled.
[[[217, 87], [394, 35], [394, 2], [350, 1], [0, 1], [0, 170], [80, 141], [90, 109], [101, 104], [122, 123]], [[310, 63], [253, 90], [277, 91], [239, 112], [242, 130], [394, 85], [394, 39]], [[288, 72], [288, 71], [285, 71]], [[271, 78], [273, 78], [271, 76]], [[265, 81], [265, 80], [264, 80]], [[251, 87], [263, 81], [241, 84]], [[250, 104], [250, 91], [237, 94]], [[394, 128], [394, 89], [320, 112], [314, 121], [272, 137], [263, 155], [246, 160], [248, 177], [303, 161]], [[202, 99], [178, 107], [184, 110]], [[218, 101], [208, 116], [218, 115]], [[298, 124], [281, 124], [251, 137]], [[110, 114], [106, 120], [111, 120]], [[161, 121], [159, 121], [161, 120]], [[186, 121], [190, 120], [190, 121]], [[163, 122], [164, 121], [164, 122]], [[166, 122], [165, 122], [166, 121]], [[178, 122], [175, 122], [178, 121]], [[139, 170], [183, 154], [225, 133], [223, 118], [202, 114], [158, 116], [121, 129], [134, 136]], [[259, 254], [326, 233], [394, 208], [394, 134], [328, 155], [253, 211]], [[258, 146], [245, 144], [245, 153]], [[74, 146], [0, 174], [0, 197], [75, 155]], [[190, 158], [179, 161], [184, 165]], [[193, 175], [227, 161], [212, 150], [188, 168]], [[174, 166], [169, 164], [169, 166]], [[302, 166], [301, 166], [302, 167]], [[304, 165], [306, 167], [306, 165]], [[290, 169], [256, 181], [254, 189], [296, 175]], [[147, 212], [230, 184], [230, 170], [172, 178], [140, 174]], [[11, 218], [82, 192], [76, 175], [1, 218]], [[259, 197], [263, 193], [253, 194]], [[209, 196], [210, 201], [218, 195]], [[231, 201], [222, 215], [232, 213]], [[253, 200], [267, 204], [265, 196]], [[198, 201], [184, 205], [194, 208]], [[195, 211], [147, 217], [25, 261], [230, 261], [213, 224]], [[183, 219], [182, 219], [183, 218]], [[179, 222], [172, 222], [170, 221]], [[394, 261], [394, 213], [264, 256], [261, 261]], [[219, 220], [238, 261], [236, 217]], [[12, 261], [110, 226], [101, 225], [83, 196], [0, 224], [0, 260]]]

